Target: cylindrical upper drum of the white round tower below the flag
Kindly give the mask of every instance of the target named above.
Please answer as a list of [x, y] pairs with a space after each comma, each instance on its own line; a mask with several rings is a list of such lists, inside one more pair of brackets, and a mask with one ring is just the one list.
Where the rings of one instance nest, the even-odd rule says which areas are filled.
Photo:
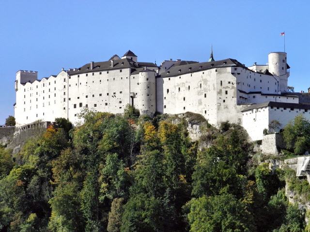
[[271, 52], [268, 54], [269, 72], [275, 76], [286, 75], [286, 52]]

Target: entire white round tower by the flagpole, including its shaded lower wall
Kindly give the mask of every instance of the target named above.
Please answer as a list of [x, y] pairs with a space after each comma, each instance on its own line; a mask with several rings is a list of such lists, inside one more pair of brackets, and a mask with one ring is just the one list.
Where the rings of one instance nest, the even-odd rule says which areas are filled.
[[279, 80], [279, 92], [287, 91], [287, 78], [290, 73], [286, 61], [286, 52], [271, 52], [268, 54], [268, 71]]

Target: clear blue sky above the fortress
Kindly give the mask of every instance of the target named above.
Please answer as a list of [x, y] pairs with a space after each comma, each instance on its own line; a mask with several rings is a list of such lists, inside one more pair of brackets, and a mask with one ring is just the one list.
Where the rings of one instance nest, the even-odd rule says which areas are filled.
[[283, 51], [289, 85], [310, 86], [310, 2], [292, 0], [2, 0], [0, 124], [14, 115], [17, 70], [39, 78], [105, 61], [131, 49], [143, 62], [216, 60], [266, 63]]

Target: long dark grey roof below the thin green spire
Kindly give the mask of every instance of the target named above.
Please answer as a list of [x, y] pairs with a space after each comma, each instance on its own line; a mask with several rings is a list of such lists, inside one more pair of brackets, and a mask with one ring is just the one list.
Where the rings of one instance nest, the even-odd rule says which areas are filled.
[[172, 65], [166, 72], [162, 73], [160, 77], [173, 77], [186, 73], [194, 73], [202, 70], [212, 68], [224, 68], [224, 67], [242, 67], [246, 68], [245, 65], [234, 59], [226, 59], [215, 62], [193, 62], [184, 65]]

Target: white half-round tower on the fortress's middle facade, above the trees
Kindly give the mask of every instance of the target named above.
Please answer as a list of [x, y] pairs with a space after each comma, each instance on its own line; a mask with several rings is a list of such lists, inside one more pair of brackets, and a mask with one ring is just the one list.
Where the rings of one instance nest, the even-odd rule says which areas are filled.
[[156, 72], [139, 73], [139, 109], [141, 114], [153, 116], [156, 112]]

